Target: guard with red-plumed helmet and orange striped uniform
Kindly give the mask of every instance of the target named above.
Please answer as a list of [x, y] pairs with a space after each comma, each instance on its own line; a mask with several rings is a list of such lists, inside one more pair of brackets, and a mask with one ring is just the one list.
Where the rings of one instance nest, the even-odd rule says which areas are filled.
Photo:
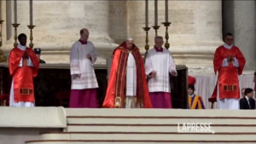
[[196, 79], [194, 77], [189, 76], [189, 89], [188, 89], [188, 109], [205, 109], [204, 102], [200, 95], [195, 95], [195, 82]]

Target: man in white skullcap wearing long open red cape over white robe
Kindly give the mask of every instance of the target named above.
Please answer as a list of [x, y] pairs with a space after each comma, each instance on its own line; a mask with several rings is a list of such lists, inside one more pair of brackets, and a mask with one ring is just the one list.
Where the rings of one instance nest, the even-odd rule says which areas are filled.
[[103, 107], [152, 108], [143, 57], [132, 38], [113, 51]]

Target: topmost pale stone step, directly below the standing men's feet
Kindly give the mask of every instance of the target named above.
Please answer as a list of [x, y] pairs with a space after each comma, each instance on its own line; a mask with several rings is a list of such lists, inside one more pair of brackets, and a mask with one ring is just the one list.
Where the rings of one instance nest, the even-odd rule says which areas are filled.
[[[246, 110], [230, 111], [230, 110], [200, 110], [191, 111], [184, 109], [122, 109], [122, 108], [66, 108], [67, 118], [79, 117], [139, 117], [139, 118], [243, 118], [256, 119], [256, 111], [249, 112]], [[227, 115], [228, 113], [228, 115]]]

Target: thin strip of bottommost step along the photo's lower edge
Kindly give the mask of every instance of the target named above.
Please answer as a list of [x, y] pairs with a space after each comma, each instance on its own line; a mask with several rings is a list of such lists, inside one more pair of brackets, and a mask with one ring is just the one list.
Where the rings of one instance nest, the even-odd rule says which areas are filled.
[[[213, 143], [214, 141], [187, 141], [187, 142], [178, 142], [178, 141], [26, 141], [26, 144], [208, 144], [208, 142]], [[240, 142], [227, 142], [232, 144], [253, 144], [252, 142], [240, 141]], [[214, 144], [223, 144], [223, 141], [215, 141]]]

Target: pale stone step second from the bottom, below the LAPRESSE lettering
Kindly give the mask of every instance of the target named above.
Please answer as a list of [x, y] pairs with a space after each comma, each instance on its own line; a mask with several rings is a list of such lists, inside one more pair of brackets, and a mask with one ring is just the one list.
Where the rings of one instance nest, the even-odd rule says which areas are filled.
[[255, 141], [256, 133], [49, 132], [40, 140], [74, 141]]

